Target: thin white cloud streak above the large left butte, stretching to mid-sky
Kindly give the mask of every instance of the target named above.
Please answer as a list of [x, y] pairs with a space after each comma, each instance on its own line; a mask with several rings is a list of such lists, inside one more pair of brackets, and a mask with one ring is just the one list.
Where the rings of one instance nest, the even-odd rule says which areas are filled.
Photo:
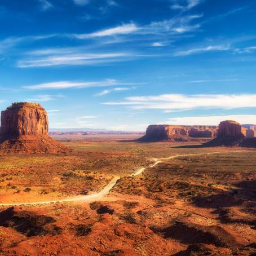
[[104, 86], [116, 86], [116, 85], [137, 85], [136, 83], [123, 83], [114, 79], [107, 79], [97, 82], [50, 82], [39, 83], [37, 85], [23, 86], [24, 89], [29, 90], [41, 90], [41, 89], [69, 89], [69, 88], [89, 88], [89, 87], [104, 87]]

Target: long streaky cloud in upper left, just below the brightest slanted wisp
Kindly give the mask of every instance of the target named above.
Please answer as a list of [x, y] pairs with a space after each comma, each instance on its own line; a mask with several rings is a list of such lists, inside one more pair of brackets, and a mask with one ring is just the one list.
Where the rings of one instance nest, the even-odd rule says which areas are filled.
[[20, 60], [19, 68], [51, 67], [56, 65], [93, 65], [115, 61], [124, 61], [129, 53], [117, 52], [108, 54], [59, 54], [39, 56], [32, 59]]

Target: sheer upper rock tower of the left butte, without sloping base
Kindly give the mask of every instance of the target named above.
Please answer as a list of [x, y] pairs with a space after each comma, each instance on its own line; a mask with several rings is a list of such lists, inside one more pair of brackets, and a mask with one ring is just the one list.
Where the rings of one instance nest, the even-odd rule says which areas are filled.
[[13, 103], [1, 114], [0, 135], [48, 135], [48, 116], [39, 103]]

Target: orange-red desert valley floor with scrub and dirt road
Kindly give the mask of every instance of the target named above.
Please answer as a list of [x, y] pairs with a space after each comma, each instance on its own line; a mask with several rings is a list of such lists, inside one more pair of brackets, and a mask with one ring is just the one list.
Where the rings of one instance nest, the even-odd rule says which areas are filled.
[[256, 255], [255, 149], [54, 138], [0, 156], [0, 255]]

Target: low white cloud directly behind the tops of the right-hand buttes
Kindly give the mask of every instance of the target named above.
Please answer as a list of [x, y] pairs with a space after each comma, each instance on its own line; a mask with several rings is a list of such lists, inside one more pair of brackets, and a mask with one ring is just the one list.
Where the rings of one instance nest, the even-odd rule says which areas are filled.
[[241, 124], [256, 123], [255, 114], [233, 114], [228, 116], [192, 116], [169, 118], [166, 124], [172, 125], [218, 125], [221, 121], [234, 120]]

